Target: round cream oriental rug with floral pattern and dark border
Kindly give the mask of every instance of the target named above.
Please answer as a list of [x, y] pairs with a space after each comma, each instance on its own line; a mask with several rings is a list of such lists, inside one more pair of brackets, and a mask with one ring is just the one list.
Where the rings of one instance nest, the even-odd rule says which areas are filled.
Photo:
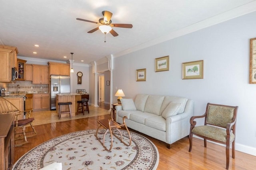
[[[120, 131], [124, 141], [129, 143], [127, 131]], [[104, 129], [99, 130], [100, 139], [104, 132]], [[89, 129], [46, 141], [24, 154], [14, 164], [13, 170], [38, 170], [53, 162], [61, 162], [63, 170], [156, 170], [159, 153], [146, 137], [130, 132], [132, 145], [129, 147], [113, 137], [113, 147], [107, 151], [94, 134], [96, 129]], [[107, 148], [110, 141], [110, 134], [107, 134]]]

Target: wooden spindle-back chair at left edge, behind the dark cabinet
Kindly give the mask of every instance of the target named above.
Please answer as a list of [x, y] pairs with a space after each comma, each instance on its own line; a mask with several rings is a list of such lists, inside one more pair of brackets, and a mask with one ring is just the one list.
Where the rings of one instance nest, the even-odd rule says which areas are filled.
[[[20, 111], [14, 104], [6, 100], [5, 98], [0, 97], [0, 114], [15, 114], [15, 126], [14, 126], [14, 141], [21, 141], [19, 143], [14, 143], [14, 146], [21, 146], [25, 143], [28, 143], [27, 137], [32, 137], [36, 135], [36, 130], [32, 125], [34, 118], [30, 118], [30, 113], [32, 110]], [[24, 116], [25, 115], [25, 116]], [[22, 119], [19, 119], [22, 117]], [[25, 118], [26, 117], [26, 118]], [[32, 131], [25, 131], [26, 125], [32, 127]], [[26, 133], [32, 133], [31, 135], [26, 135]], [[22, 141], [23, 140], [23, 141]]]

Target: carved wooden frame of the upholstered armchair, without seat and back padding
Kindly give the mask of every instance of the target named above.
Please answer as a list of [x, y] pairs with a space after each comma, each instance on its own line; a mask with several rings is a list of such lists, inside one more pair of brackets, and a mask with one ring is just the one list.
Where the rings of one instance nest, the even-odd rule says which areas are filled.
[[[207, 123], [208, 109], [209, 109], [210, 105], [234, 108], [234, 116], [232, 118], [232, 121], [230, 123], [227, 123], [226, 127], [222, 127], [222, 126], [218, 126], [218, 125], [213, 125], [213, 124]], [[226, 105], [210, 104], [210, 103], [208, 103], [207, 106], [206, 106], [206, 111], [205, 111], [204, 115], [192, 116], [190, 118], [190, 134], [188, 136], [188, 139], [189, 139], [189, 150], [188, 151], [191, 152], [191, 150], [192, 150], [192, 138], [193, 138], [193, 135], [196, 135], [196, 136], [201, 137], [201, 138], [204, 139], [204, 147], [207, 147], [207, 141], [206, 140], [210, 140], [210, 141], [214, 141], [216, 143], [224, 144], [224, 145], [226, 145], [226, 169], [228, 169], [229, 168], [229, 152], [230, 152], [230, 143], [231, 142], [232, 142], [232, 158], [235, 158], [236, 115], [237, 115], [237, 110], [238, 110], [238, 106], [226, 106]], [[202, 136], [202, 135], [199, 135], [197, 133], [192, 132], [193, 128], [196, 125], [196, 121], [194, 121], [194, 119], [197, 119], [197, 118], [204, 118], [204, 125], [213, 125], [215, 127], [225, 128], [226, 129], [226, 142], [218, 141], [216, 139], [205, 137], [205, 136]], [[230, 141], [230, 133], [234, 134], [234, 140], [233, 141]]]

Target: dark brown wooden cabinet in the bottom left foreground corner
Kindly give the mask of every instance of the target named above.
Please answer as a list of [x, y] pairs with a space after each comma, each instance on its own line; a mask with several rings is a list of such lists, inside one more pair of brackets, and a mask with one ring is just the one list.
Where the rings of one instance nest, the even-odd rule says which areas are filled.
[[0, 170], [11, 170], [14, 164], [14, 116], [0, 115]]

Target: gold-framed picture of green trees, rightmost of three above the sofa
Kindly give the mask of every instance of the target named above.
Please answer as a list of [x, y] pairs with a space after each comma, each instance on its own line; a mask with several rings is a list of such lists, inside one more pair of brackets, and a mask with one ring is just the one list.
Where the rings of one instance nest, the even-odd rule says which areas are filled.
[[204, 61], [182, 63], [182, 79], [204, 78]]

